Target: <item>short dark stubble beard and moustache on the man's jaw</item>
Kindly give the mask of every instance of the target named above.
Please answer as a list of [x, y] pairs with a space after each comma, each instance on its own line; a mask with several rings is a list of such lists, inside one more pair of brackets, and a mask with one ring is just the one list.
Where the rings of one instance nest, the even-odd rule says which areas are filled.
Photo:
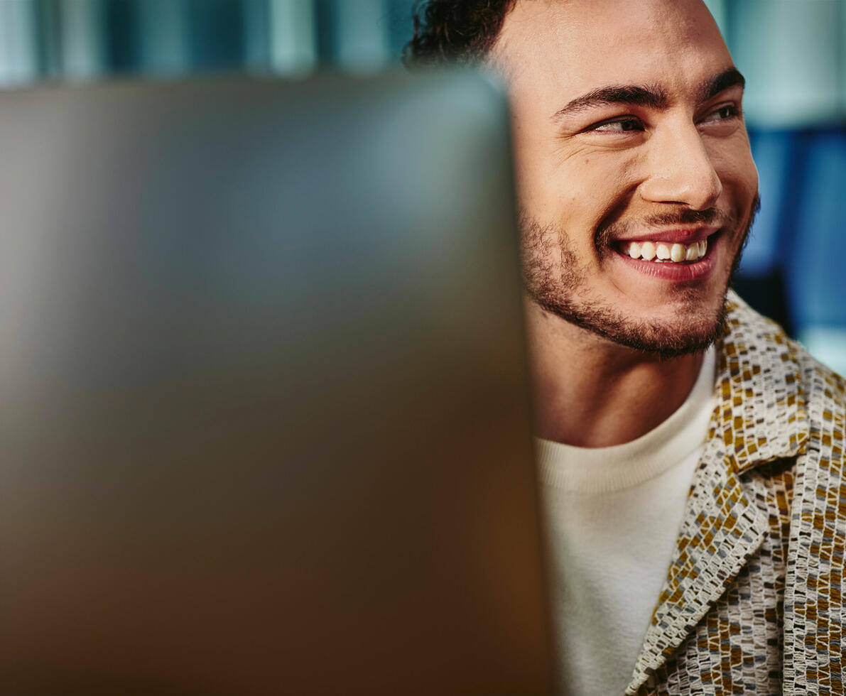
[[[722, 288], [717, 302], [714, 303], [713, 299], [703, 296], [700, 288], [676, 288], [677, 296], [674, 299], [678, 302], [674, 306], [689, 310], [675, 314], [666, 321], [633, 319], [612, 305], [591, 296], [585, 287], [586, 268], [580, 265], [573, 244], [563, 229], [556, 225], [542, 225], [523, 215], [520, 219], [520, 233], [525, 291], [541, 309], [620, 346], [650, 353], [661, 359], [700, 352], [723, 334], [726, 322], [726, 293], [740, 264], [740, 257], [759, 208], [760, 199], [756, 195], [749, 221], [744, 227], [732, 260], [728, 282], [726, 287]], [[688, 211], [665, 216], [662, 222], [711, 222], [717, 217], [714, 211]], [[658, 221], [653, 218], [651, 222]], [[724, 223], [721, 224], [721, 227], [724, 227], [723, 233], [737, 226], [737, 221], [720, 222]], [[614, 253], [608, 247], [609, 238], [613, 238], [613, 227], [610, 226], [596, 235], [596, 249], [601, 259], [605, 254]], [[703, 311], [703, 308], [706, 310]]]

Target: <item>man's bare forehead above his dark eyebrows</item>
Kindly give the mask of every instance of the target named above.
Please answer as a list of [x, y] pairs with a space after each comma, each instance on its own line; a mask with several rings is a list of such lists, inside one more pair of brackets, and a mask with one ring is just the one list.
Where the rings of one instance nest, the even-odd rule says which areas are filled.
[[700, 0], [517, 0], [491, 58], [512, 90], [558, 101], [602, 85], [693, 90], [733, 64]]

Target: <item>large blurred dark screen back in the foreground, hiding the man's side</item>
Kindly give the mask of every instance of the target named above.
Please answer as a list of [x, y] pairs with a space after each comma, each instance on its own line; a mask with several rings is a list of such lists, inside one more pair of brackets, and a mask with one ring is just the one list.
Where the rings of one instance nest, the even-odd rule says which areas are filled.
[[549, 693], [496, 88], [6, 92], [0, 152], [0, 693]]

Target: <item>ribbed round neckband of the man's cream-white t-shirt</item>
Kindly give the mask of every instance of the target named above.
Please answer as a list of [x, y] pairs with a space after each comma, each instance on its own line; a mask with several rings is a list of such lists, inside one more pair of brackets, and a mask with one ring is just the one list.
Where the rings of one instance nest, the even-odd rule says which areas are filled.
[[688, 397], [664, 422], [636, 440], [613, 447], [573, 447], [536, 438], [541, 482], [579, 493], [608, 493], [662, 474], [702, 446], [715, 402], [717, 351], [711, 346]]

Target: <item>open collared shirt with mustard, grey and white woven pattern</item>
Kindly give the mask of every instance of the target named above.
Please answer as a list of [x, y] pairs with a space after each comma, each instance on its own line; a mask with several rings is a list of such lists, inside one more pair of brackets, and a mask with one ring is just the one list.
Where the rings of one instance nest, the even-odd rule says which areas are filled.
[[627, 694], [842, 694], [846, 381], [728, 294], [717, 395]]

